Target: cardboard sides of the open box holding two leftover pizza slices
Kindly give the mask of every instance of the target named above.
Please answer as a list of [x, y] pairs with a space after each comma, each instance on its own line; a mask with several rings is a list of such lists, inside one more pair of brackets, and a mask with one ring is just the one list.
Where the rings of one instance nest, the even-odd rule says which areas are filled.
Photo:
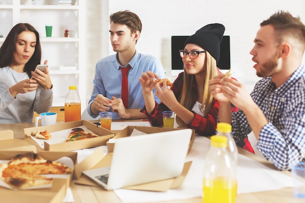
[[[27, 129], [24, 129], [24, 136], [25, 137], [30, 137], [31, 135], [35, 136], [35, 134], [38, 132], [38, 130], [39, 131], [47, 130], [49, 133], [52, 134], [52, 132], [57, 132], [57, 131], [64, 130], [64, 129], [76, 128], [76, 127], [80, 127], [80, 126], [85, 126], [87, 129], [89, 129], [92, 132], [94, 132], [95, 134], [99, 135], [99, 137], [85, 139], [85, 140], [77, 140], [77, 141], [72, 141], [72, 142], [63, 142], [63, 143], [52, 144], [52, 145], [44, 142], [43, 149], [46, 151], [73, 151], [76, 149], [93, 148], [93, 147], [106, 145], [106, 142], [110, 138], [114, 137], [114, 135], [115, 135], [113, 131], [98, 127], [97, 125], [95, 125], [89, 121], [82, 120], [82, 121], [73, 121], [73, 122], [67, 122], [67, 123], [59, 123], [59, 124], [50, 125], [50, 126], [27, 128]], [[68, 137], [68, 135], [69, 135], [69, 133], [66, 136]], [[36, 143], [35, 141], [33, 141], [33, 142]]]

